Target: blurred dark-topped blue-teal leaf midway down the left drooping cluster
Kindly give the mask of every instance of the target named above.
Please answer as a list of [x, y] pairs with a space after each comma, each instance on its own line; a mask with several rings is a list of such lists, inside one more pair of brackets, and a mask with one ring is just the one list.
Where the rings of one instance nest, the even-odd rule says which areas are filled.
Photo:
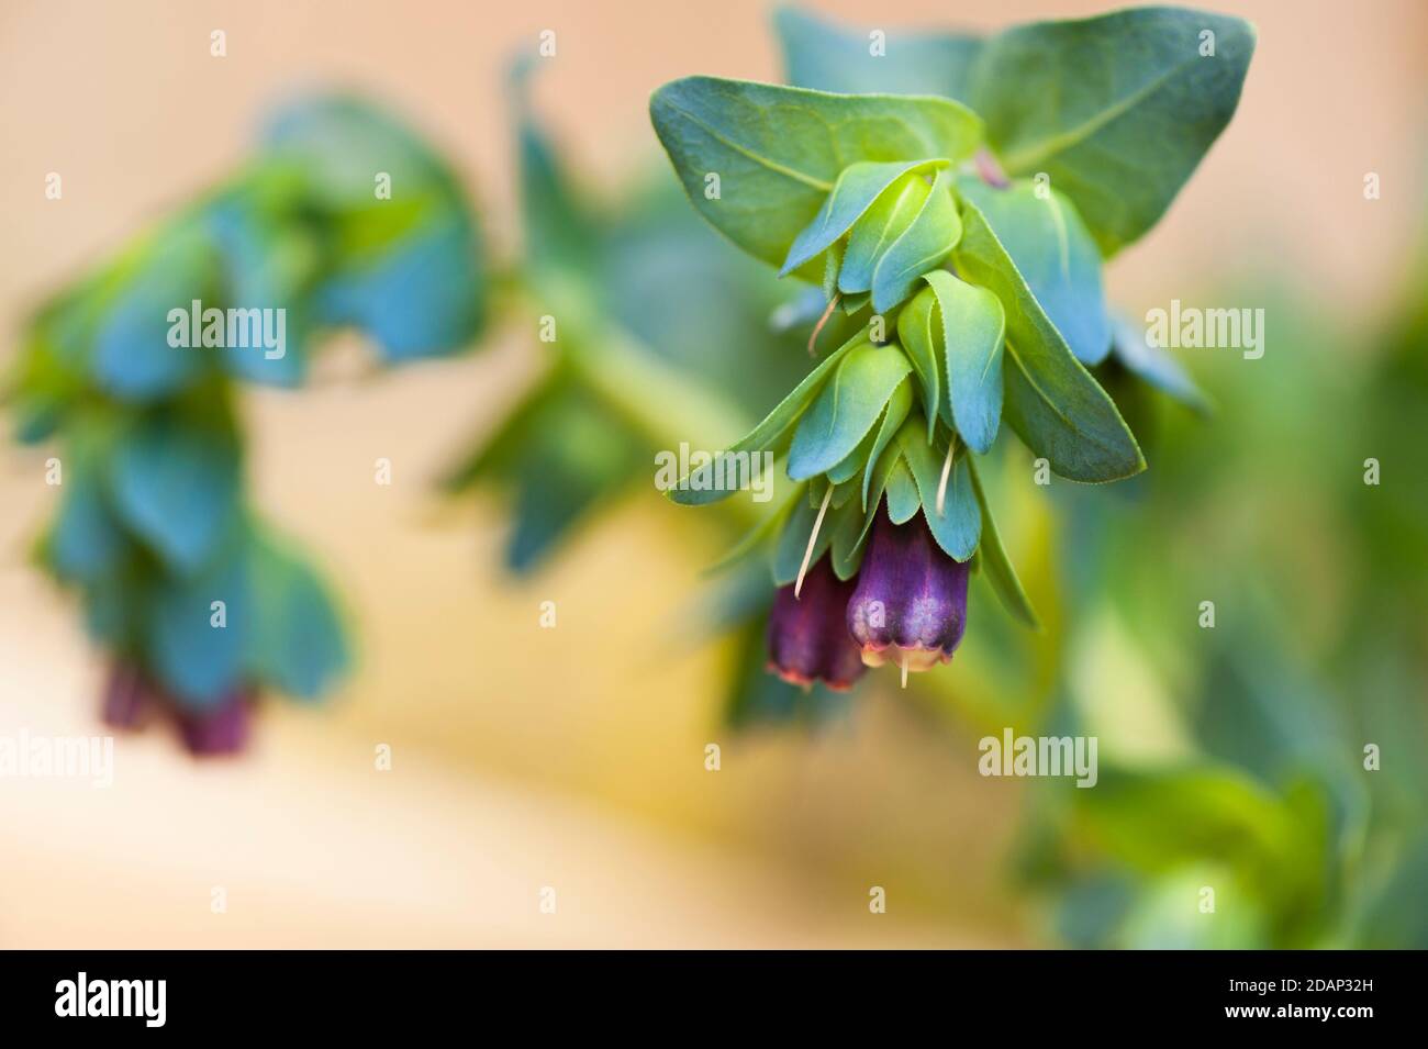
[[231, 432], [149, 417], [119, 441], [110, 464], [114, 510], [178, 572], [198, 569], [238, 510], [238, 445]]

